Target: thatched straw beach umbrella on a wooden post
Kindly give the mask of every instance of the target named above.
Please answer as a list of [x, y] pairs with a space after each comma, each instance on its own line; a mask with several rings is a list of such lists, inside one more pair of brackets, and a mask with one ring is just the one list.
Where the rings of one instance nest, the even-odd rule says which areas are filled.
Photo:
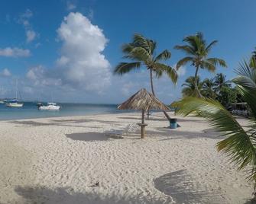
[[141, 123], [141, 138], [145, 136], [145, 126], [144, 123], [144, 113], [147, 110], [170, 110], [166, 105], [164, 105], [157, 97], [153, 94], [147, 92], [145, 88], [142, 88], [136, 94], [132, 95], [128, 100], [118, 106], [119, 110], [141, 110], [142, 117]]

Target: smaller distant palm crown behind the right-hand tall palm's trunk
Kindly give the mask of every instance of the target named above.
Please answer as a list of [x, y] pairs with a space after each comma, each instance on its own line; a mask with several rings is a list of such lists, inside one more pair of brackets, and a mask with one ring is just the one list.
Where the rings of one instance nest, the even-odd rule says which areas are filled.
[[197, 87], [199, 91], [200, 92], [203, 91], [203, 83], [200, 81], [199, 76], [197, 76], [196, 80], [195, 80], [195, 77], [190, 76], [189, 78], [186, 78], [185, 83], [182, 84], [182, 86], [184, 87], [181, 91], [183, 94], [183, 97], [196, 96], [195, 81], [197, 83]]

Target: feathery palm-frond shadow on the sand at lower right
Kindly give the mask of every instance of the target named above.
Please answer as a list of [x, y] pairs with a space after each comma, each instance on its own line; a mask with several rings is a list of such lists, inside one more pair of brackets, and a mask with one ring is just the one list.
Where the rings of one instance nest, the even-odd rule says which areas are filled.
[[227, 203], [218, 190], [199, 190], [200, 183], [193, 183], [191, 180], [192, 177], [186, 170], [180, 170], [157, 177], [154, 186], [172, 196], [177, 203]]

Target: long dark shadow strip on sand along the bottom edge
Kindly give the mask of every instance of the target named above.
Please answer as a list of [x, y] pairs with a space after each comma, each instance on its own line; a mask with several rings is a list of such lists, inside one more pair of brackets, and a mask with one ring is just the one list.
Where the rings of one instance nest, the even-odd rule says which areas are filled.
[[111, 195], [101, 195], [99, 193], [78, 193], [72, 188], [60, 187], [56, 189], [49, 189], [44, 186], [18, 186], [15, 188], [15, 192], [19, 196], [22, 196], [23, 201], [17, 202], [20, 204], [31, 204], [31, 203], [44, 203], [44, 204], [112, 204], [112, 203], [170, 203], [160, 201], [157, 198], [148, 198], [143, 195], [138, 196], [117, 196], [115, 194]]

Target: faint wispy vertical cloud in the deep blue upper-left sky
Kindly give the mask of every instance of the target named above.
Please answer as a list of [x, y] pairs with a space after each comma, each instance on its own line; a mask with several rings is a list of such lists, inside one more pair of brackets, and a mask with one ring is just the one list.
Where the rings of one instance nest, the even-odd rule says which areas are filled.
[[31, 43], [34, 41], [37, 37], [39, 37], [39, 34], [36, 33], [30, 23], [30, 18], [33, 16], [33, 13], [30, 9], [27, 9], [23, 14], [20, 15], [20, 18], [18, 20], [18, 23], [23, 24], [25, 33], [26, 33], [26, 42]]

